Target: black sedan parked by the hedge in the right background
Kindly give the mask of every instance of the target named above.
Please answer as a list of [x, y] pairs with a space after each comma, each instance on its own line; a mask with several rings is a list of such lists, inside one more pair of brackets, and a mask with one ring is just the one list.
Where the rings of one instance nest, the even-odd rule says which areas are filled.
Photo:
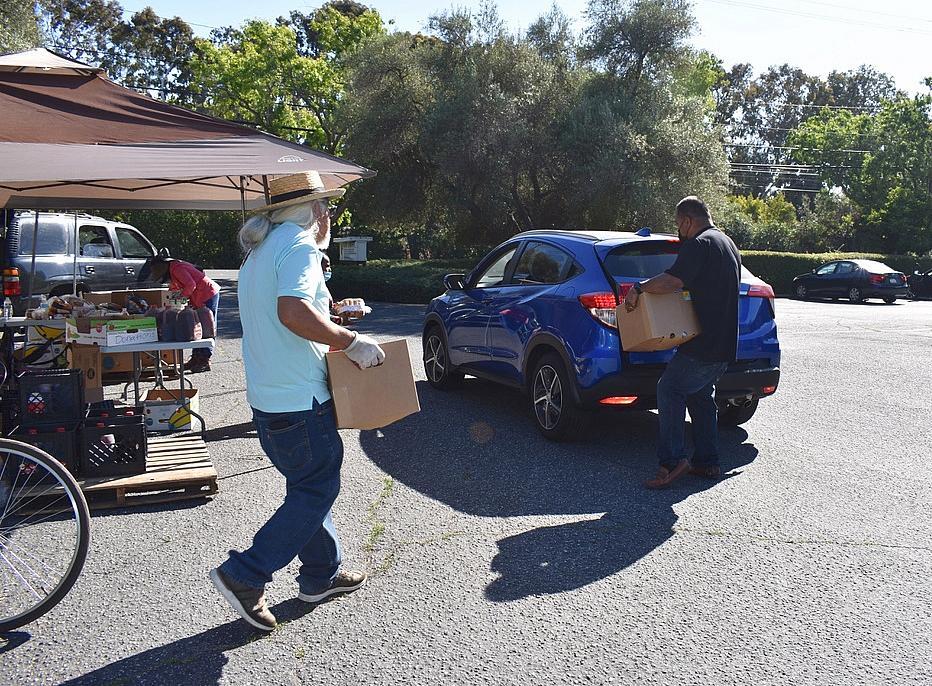
[[905, 298], [909, 289], [906, 276], [882, 262], [873, 260], [836, 260], [827, 262], [809, 274], [793, 279], [797, 298], [848, 298], [853, 303], [880, 298], [893, 303]]

